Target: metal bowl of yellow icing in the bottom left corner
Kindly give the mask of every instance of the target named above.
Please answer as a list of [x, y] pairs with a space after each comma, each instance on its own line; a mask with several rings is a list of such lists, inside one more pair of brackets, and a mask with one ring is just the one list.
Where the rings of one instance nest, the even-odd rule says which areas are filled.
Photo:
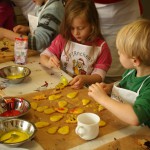
[[0, 143], [13, 147], [30, 141], [37, 131], [33, 123], [17, 118], [0, 121], [0, 129]]

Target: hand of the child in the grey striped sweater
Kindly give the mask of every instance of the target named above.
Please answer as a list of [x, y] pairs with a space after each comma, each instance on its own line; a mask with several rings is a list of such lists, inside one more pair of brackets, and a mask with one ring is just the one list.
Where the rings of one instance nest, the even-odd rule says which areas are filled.
[[27, 26], [23, 26], [23, 25], [17, 25], [13, 28], [13, 31], [16, 32], [16, 33], [19, 33], [19, 34], [26, 34], [28, 33], [30, 30], [29, 30], [29, 27]]

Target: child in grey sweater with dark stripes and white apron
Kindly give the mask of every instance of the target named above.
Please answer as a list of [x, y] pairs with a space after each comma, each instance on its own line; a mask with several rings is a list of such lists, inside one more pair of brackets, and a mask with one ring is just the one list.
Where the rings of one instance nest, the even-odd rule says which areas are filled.
[[64, 6], [62, 0], [34, 0], [33, 2], [36, 8], [28, 14], [29, 26], [18, 25], [13, 28], [14, 32], [0, 28], [0, 39], [8, 38], [15, 41], [15, 38], [22, 34], [24, 38], [28, 38], [29, 49], [41, 52], [58, 34]]

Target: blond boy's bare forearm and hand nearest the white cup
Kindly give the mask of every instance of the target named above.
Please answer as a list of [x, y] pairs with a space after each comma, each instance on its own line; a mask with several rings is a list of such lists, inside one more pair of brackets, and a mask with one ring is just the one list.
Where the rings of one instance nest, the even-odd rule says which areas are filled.
[[139, 120], [133, 110], [133, 107], [130, 104], [117, 102], [116, 100], [111, 99], [106, 94], [101, 84], [92, 84], [89, 87], [88, 95], [103, 105], [120, 120], [130, 125], [139, 125]]

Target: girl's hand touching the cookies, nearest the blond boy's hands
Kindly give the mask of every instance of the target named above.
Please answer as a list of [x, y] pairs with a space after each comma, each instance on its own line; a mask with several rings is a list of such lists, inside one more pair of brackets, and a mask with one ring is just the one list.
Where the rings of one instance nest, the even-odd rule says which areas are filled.
[[78, 75], [76, 77], [74, 77], [70, 83], [71, 87], [73, 89], [80, 89], [83, 88], [84, 84], [85, 84], [85, 80], [84, 80], [84, 76], [83, 75]]

